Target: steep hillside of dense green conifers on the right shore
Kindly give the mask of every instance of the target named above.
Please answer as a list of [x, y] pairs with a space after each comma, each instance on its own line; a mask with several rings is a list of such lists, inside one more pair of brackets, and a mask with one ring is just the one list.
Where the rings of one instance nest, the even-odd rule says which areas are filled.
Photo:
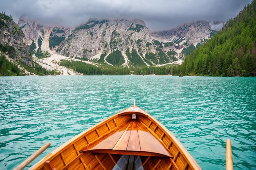
[[256, 76], [256, 0], [173, 68], [173, 75]]

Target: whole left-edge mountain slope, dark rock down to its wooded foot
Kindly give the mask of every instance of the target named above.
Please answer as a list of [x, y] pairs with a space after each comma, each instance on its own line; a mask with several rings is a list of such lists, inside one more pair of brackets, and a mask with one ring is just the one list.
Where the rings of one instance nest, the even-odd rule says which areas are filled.
[[26, 44], [25, 35], [12, 17], [0, 13], [0, 75], [60, 75], [56, 69], [38, 64]]

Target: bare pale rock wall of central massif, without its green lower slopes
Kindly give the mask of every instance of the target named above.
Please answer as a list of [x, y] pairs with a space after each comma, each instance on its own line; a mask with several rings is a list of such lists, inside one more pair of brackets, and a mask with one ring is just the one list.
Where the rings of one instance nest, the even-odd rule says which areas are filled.
[[[56, 52], [69, 57], [106, 62], [105, 59], [100, 58], [101, 55], [103, 57], [113, 51], [121, 51], [121, 58], [124, 58], [122, 64], [128, 64], [126, 50], [134, 49], [139, 53], [139, 47], [144, 48], [146, 42], [150, 41], [150, 32], [142, 20], [90, 18], [85, 24], [76, 27]], [[141, 54], [145, 52], [141, 51]]]

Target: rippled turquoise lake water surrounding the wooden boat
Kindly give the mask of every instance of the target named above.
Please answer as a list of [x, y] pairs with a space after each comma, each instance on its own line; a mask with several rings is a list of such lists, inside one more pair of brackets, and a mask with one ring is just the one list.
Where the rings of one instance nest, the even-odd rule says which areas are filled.
[[177, 76], [0, 77], [0, 169], [51, 142], [36, 163], [133, 99], [203, 170], [225, 170], [226, 139], [234, 170], [256, 169], [256, 78]]

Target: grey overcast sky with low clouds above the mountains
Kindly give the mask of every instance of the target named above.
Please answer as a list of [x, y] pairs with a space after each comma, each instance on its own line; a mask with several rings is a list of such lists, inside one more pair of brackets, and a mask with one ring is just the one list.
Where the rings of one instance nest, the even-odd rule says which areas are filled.
[[[0, 11], [18, 23], [29, 15], [45, 25], [78, 26], [89, 18], [139, 18], [152, 30], [195, 20], [227, 21], [251, 0], [0, 0]], [[221, 24], [212, 25], [219, 29]]]

